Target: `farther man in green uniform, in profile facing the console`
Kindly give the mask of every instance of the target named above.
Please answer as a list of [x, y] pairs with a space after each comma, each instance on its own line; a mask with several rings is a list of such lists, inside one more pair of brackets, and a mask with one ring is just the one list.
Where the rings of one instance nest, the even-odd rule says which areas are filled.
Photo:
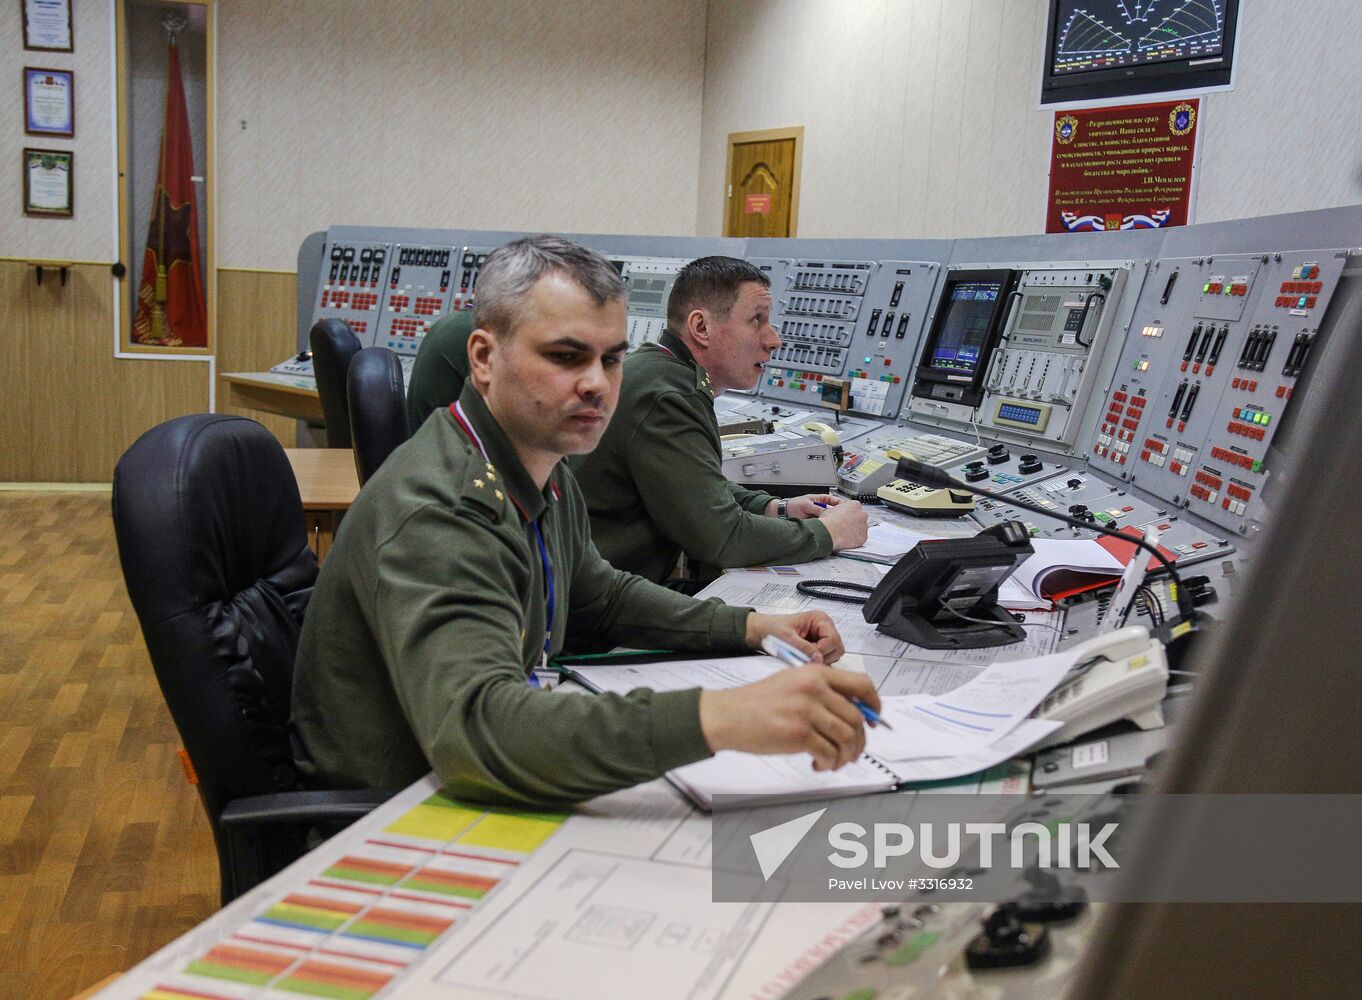
[[723, 475], [714, 398], [756, 386], [779, 346], [760, 270], [737, 257], [681, 268], [666, 331], [624, 362], [618, 413], [601, 446], [572, 459], [591, 534], [612, 565], [662, 582], [681, 552], [730, 567], [805, 563], [865, 544], [866, 515], [854, 500], [778, 500]]

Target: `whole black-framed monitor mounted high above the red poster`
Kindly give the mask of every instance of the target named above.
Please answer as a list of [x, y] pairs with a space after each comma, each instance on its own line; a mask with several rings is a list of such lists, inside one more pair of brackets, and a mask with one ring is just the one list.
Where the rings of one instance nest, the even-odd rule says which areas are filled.
[[1041, 104], [1230, 83], [1239, 0], [1050, 0]]

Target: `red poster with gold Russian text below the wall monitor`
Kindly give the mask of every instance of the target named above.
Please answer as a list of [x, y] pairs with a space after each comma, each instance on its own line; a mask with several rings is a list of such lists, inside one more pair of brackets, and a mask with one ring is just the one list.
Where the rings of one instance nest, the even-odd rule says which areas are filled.
[[1200, 99], [1054, 113], [1045, 232], [1188, 222]]

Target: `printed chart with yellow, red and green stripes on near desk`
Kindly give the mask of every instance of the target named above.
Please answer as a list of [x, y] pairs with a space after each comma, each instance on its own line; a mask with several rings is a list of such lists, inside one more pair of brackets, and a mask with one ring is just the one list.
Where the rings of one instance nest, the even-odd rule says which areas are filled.
[[[415, 965], [567, 820], [443, 792], [267, 898], [142, 1000], [369, 1000]], [[202, 946], [200, 946], [202, 947]]]

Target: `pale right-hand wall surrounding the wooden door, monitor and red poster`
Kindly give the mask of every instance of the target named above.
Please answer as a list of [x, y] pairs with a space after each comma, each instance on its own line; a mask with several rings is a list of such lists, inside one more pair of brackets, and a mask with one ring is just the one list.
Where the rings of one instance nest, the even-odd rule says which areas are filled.
[[[1046, 0], [711, 0], [697, 232], [729, 132], [805, 127], [799, 236], [1041, 232]], [[1194, 219], [1362, 202], [1362, 7], [1244, 0], [1234, 91], [1203, 102]], [[1117, 102], [1114, 102], [1117, 104]]]

